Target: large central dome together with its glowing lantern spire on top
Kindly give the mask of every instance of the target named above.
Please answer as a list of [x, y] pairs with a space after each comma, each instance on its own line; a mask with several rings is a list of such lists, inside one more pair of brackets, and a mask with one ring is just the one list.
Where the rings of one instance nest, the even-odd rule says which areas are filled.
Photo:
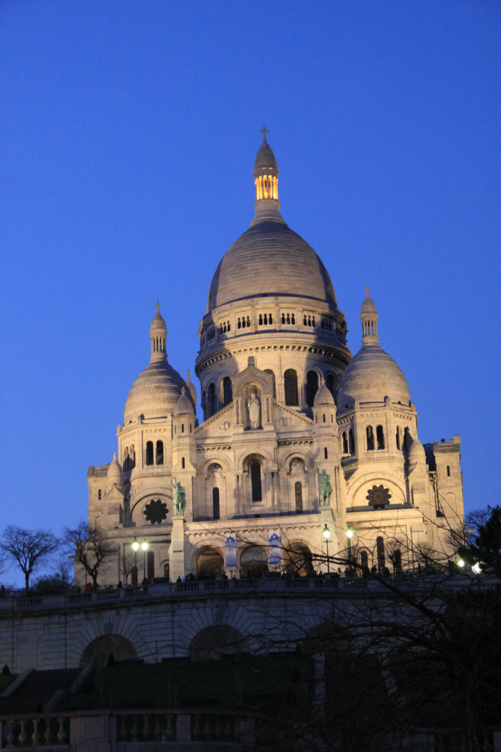
[[337, 311], [327, 269], [280, 214], [276, 159], [264, 138], [255, 159], [255, 218], [223, 256], [210, 284], [207, 313], [258, 296], [300, 296]]

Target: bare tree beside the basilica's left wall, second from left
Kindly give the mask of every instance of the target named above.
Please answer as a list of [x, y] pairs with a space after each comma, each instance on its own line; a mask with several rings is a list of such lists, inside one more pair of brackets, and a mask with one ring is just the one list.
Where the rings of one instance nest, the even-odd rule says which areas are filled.
[[92, 579], [93, 590], [96, 590], [99, 569], [116, 556], [116, 547], [98, 526], [89, 526], [85, 520], [73, 528], [65, 528], [62, 542], [68, 555], [74, 556], [75, 562], [83, 566]]

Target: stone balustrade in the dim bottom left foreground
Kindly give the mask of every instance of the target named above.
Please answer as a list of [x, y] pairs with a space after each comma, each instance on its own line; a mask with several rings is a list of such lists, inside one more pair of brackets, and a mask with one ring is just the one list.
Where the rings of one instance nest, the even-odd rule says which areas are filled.
[[147, 743], [169, 742], [184, 747], [203, 742], [210, 750], [220, 744], [228, 752], [255, 742], [257, 717], [233, 711], [142, 710], [80, 711], [73, 714], [32, 714], [0, 718], [2, 749], [147, 749]]

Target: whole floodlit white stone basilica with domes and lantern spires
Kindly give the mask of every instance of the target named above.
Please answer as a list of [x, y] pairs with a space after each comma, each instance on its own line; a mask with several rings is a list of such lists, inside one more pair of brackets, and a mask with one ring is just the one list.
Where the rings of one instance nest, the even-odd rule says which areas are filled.
[[[406, 567], [416, 547], [446, 554], [463, 519], [459, 436], [419, 441], [368, 288], [352, 357], [326, 268], [280, 214], [278, 175], [264, 129], [255, 217], [219, 263], [199, 329], [200, 425], [157, 304], [115, 459], [88, 472], [89, 526], [99, 520], [117, 548], [101, 586], [325, 571], [326, 529], [329, 556], [350, 545], [362, 566]], [[148, 549], [130, 572], [134, 539]]]

